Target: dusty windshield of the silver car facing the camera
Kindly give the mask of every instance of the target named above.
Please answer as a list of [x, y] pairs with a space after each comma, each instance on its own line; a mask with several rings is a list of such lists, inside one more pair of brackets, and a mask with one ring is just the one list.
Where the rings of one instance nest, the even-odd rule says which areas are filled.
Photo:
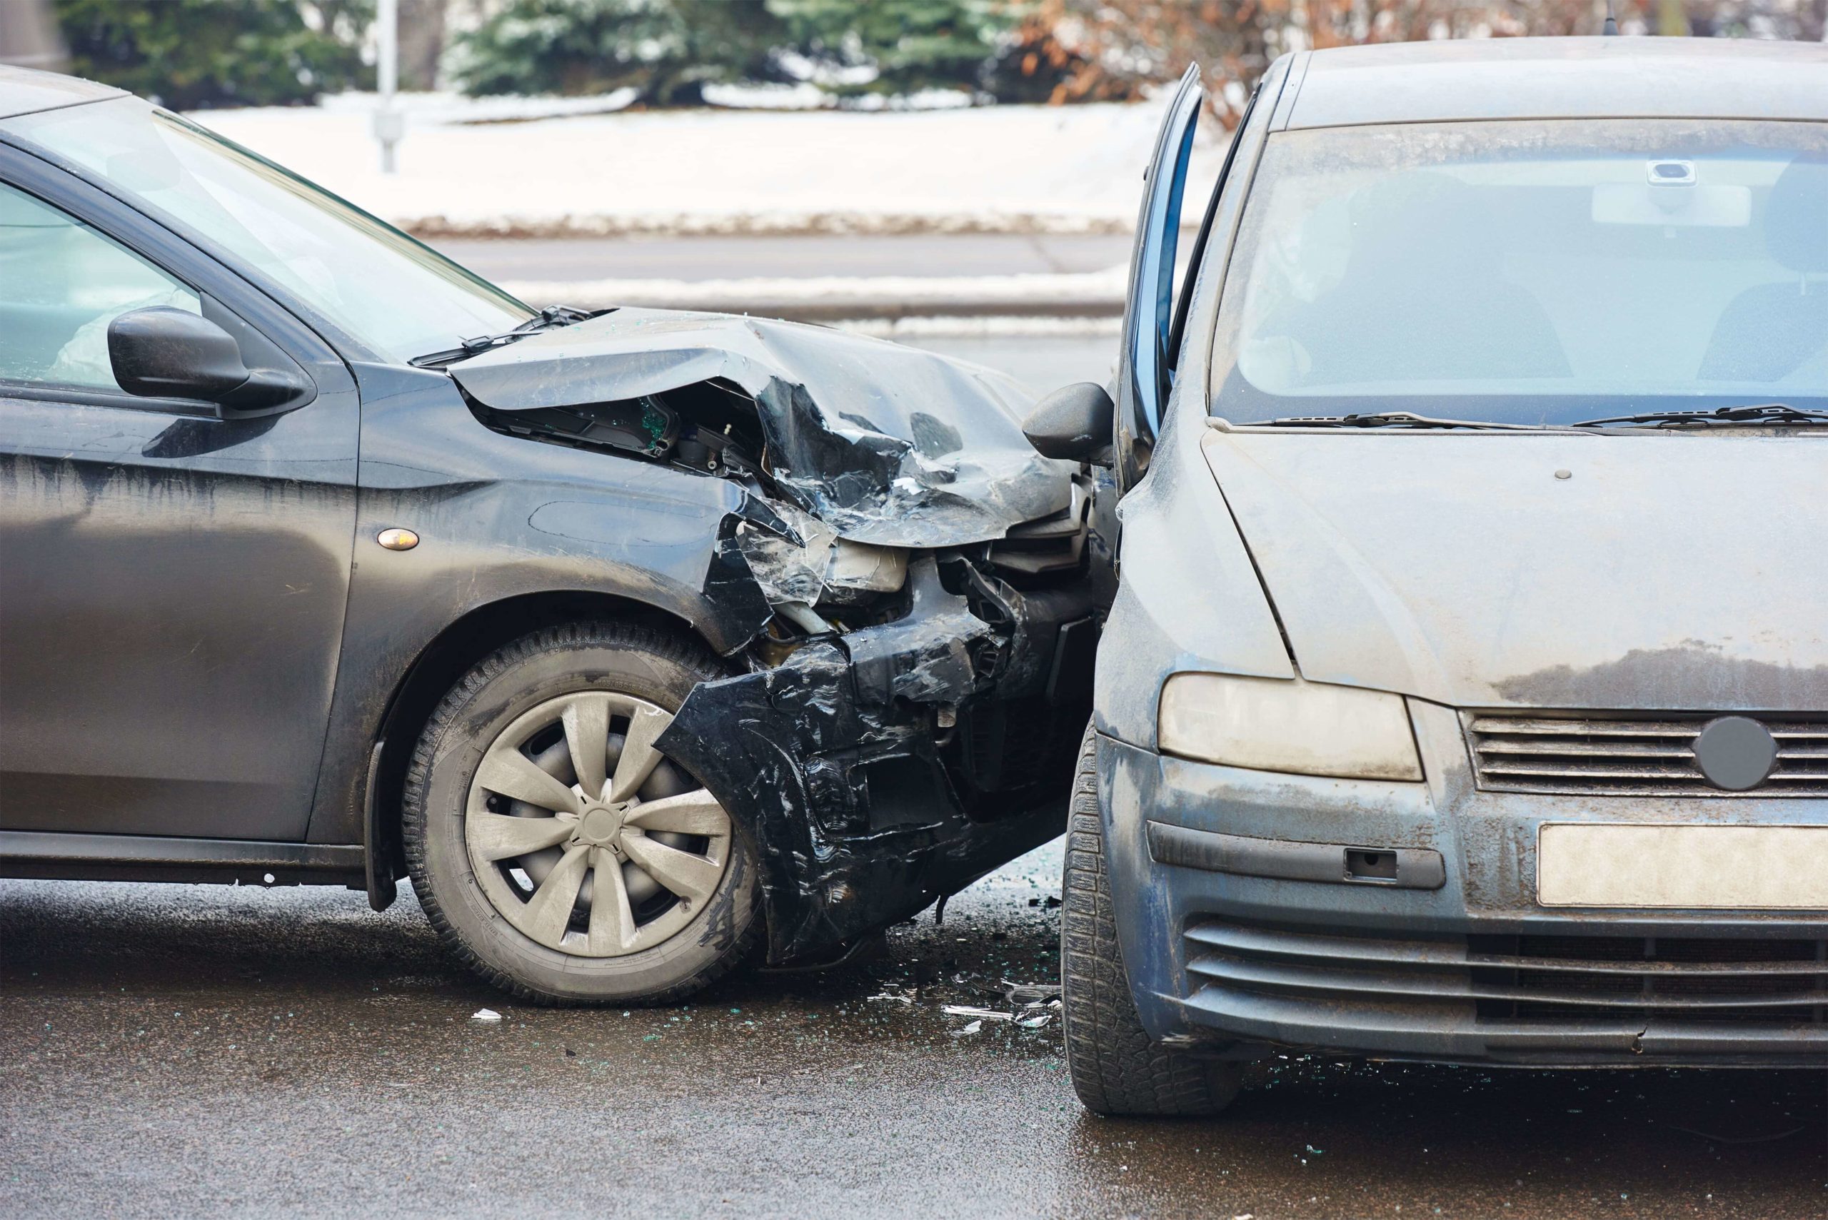
[[1239, 424], [1828, 407], [1828, 126], [1272, 135], [1217, 338]]

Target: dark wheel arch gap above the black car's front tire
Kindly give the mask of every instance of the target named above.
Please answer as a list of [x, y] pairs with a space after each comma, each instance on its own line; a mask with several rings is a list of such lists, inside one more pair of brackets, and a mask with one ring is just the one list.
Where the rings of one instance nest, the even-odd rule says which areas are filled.
[[364, 842], [367, 847], [367, 900], [377, 911], [393, 902], [395, 882], [406, 877], [406, 851], [400, 842], [400, 794], [406, 769], [419, 734], [444, 694], [477, 661], [503, 645], [545, 626], [612, 619], [642, 623], [656, 630], [691, 637], [715, 652], [704, 632], [691, 621], [645, 601], [589, 590], [543, 590], [515, 594], [473, 606], [431, 637], [406, 674], [380, 716], [369, 741], [369, 774], [364, 798]]

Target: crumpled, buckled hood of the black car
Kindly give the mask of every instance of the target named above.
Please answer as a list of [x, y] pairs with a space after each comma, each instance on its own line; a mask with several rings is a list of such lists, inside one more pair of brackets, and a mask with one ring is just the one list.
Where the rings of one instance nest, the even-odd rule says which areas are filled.
[[1073, 466], [1022, 436], [1031, 398], [1015, 380], [826, 327], [618, 309], [450, 373], [495, 411], [740, 385], [757, 402], [775, 482], [857, 542], [982, 542], [1071, 500]]

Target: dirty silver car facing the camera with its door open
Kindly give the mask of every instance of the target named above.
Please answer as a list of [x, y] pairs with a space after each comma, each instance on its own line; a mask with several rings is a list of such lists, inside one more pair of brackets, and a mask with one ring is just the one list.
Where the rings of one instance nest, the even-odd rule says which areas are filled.
[[1828, 1063], [1828, 47], [1283, 57], [1175, 292], [1199, 110], [1115, 405], [1029, 422], [1126, 493], [1080, 1098], [1214, 1112], [1272, 1048]]

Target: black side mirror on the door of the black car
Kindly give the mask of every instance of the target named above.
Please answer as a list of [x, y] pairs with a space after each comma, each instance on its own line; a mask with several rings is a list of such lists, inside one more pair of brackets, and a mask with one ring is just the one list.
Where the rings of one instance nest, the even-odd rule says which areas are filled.
[[249, 369], [234, 336], [208, 318], [155, 305], [108, 323], [115, 382], [144, 398], [201, 398], [236, 411], [285, 405], [309, 389], [285, 369]]

